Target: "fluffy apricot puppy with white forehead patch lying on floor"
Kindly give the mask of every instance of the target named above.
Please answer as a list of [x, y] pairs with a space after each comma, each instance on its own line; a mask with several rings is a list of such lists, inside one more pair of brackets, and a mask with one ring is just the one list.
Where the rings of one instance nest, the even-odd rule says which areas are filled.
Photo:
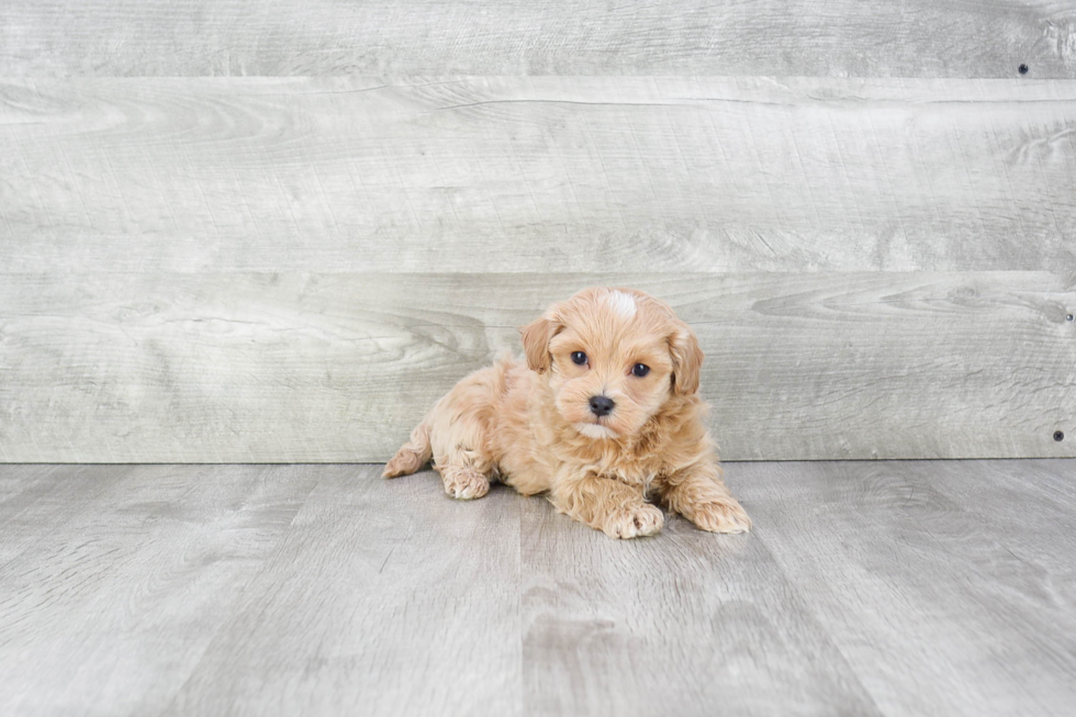
[[662, 301], [584, 289], [519, 329], [526, 365], [503, 357], [437, 402], [385, 478], [433, 457], [445, 491], [482, 497], [491, 480], [614, 538], [654, 535], [657, 496], [704, 530], [751, 520], [721, 481], [698, 396], [703, 351]]

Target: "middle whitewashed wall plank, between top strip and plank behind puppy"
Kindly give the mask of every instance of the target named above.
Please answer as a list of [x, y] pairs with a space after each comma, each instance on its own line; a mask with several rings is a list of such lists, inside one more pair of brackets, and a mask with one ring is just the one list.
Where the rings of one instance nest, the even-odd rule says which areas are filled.
[[1076, 81], [0, 83], [0, 272], [1076, 266]]

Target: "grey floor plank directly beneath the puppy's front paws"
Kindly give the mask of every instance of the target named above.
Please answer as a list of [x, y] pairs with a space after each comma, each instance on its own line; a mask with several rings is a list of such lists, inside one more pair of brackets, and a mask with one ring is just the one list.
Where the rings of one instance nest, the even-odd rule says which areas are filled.
[[539, 501], [522, 523], [527, 714], [882, 714], [753, 536], [670, 516], [617, 541]]

